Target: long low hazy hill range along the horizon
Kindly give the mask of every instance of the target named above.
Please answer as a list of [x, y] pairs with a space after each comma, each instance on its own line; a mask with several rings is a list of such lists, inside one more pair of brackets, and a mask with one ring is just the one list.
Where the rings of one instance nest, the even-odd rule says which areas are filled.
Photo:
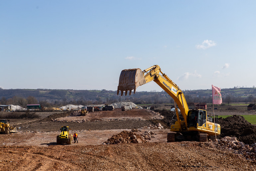
[[[212, 90], [185, 90], [187, 102], [211, 102]], [[74, 105], [83, 104], [111, 104], [120, 101], [133, 102], [135, 104], [162, 104], [173, 103], [173, 99], [164, 91], [161, 92], [136, 92], [131, 96], [120, 96], [116, 91], [111, 90], [59, 90], [59, 89], [1, 89], [0, 88], [0, 102], [2, 104], [15, 103], [14, 100], [17, 97], [27, 99], [28, 97], [34, 97], [38, 100], [38, 103], [50, 103], [58, 105], [65, 105], [65, 103], [71, 103]], [[222, 99], [226, 97], [232, 98], [232, 101], [245, 102], [253, 101], [256, 96], [256, 88], [229, 88], [221, 89]], [[14, 99], [14, 97], [16, 97]], [[28, 100], [28, 99], [27, 99]], [[25, 104], [25, 102], [24, 102]]]

